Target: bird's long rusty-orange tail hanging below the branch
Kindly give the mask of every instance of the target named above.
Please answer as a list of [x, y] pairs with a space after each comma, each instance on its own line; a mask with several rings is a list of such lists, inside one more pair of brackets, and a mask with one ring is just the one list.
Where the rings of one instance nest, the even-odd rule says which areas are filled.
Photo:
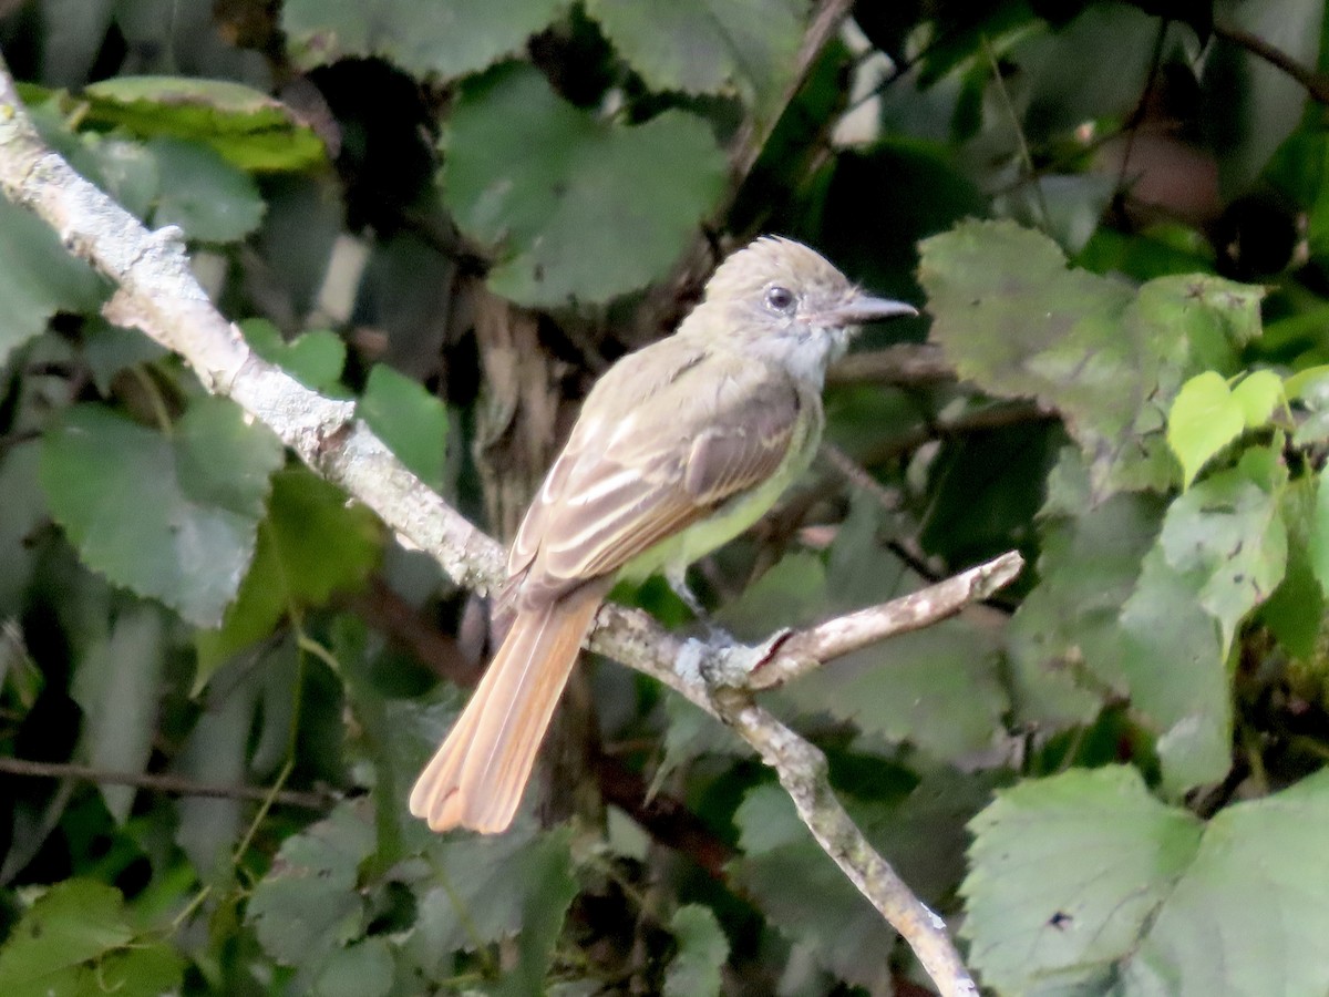
[[416, 780], [415, 816], [435, 831], [506, 830], [603, 597], [605, 586], [591, 582], [517, 613], [466, 709]]

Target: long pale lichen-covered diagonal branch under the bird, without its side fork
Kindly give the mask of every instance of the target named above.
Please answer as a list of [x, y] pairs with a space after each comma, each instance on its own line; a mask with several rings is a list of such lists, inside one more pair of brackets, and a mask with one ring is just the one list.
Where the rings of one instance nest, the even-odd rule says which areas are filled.
[[[501, 581], [498, 545], [420, 484], [355, 419], [354, 403], [322, 397], [250, 351], [194, 280], [177, 230], [149, 233], [41, 144], [3, 61], [0, 189], [110, 278], [117, 287], [105, 308], [110, 320], [138, 327], [183, 356], [209, 391], [238, 401], [311, 468], [372, 508], [404, 544], [431, 553], [459, 585], [492, 592]], [[716, 683], [715, 677], [748, 681], [750, 649], [699, 649], [646, 614], [618, 606], [602, 608], [597, 622], [593, 649], [720, 717], [776, 768], [817, 841], [913, 946], [942, 994], [977, 993], [945, 924], [872, 849], [835, 798], [823, 754], [756, 706], [748, 691]], [[735, 671], [735, 662], [748, 663]]]

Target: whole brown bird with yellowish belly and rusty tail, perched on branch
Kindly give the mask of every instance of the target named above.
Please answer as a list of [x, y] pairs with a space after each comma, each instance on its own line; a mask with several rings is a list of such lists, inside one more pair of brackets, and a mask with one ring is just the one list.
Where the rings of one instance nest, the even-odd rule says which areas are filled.
[[859, 323], [913, 314], [767, 237], [720, 265], [674, 335], [606, 371], [513, 541], [508, 635], [411, 812], [435, 831], [505, 830], [615, 580], [663, 570], [678, 586], [766, 513], [816, 453], [827, 364]]

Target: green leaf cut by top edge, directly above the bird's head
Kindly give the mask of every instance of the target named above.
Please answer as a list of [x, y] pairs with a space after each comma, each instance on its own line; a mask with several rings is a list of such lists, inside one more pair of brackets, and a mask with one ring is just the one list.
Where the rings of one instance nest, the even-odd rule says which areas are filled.
[[736, 93], [769, 121], [793, 81], [801, 0], [590, 0], [586, 12], [647, 86]]

